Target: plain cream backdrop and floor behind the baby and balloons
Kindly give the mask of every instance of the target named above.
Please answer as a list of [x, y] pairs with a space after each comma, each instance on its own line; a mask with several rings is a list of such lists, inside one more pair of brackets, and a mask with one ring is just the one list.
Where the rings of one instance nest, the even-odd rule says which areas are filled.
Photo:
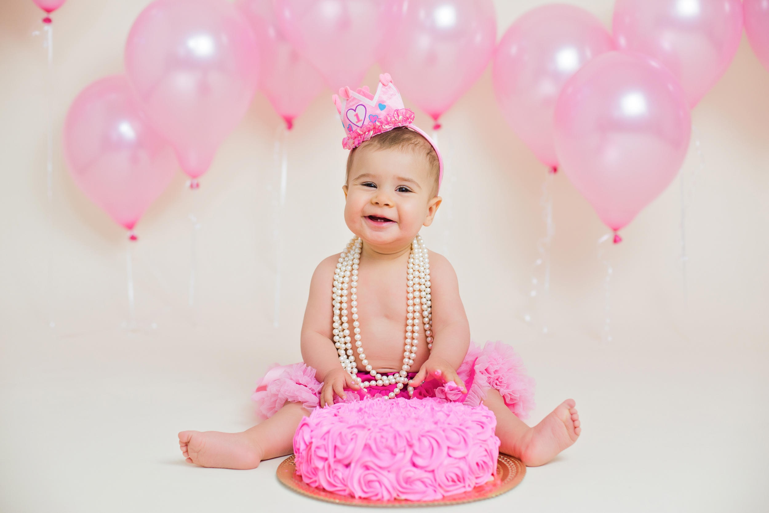
[[[0, 511], [331, 511], [281, 488], [279, 460], [195, 468], [175, 440], [185, 428], [253, 425], [255, 379], [301, 358], [309, 278], [349, 236], [331, 92], [288, 137], [278, 327], [271, 191], [281, 121], [258, 94], [201, 188], [190, 192], [180, 173], [138, 224], [139, 329], [125, 330], [125, 232], [72, 182], [61, 134], [75, 95], [123, 71], [128, 28], [147, 3], [68, 0], [55, 13], [49, 216], [47, 68], [33, 34], [42, 15], [30, 0], [0, 2]], [[544, 3], [497, 0], [498, 37]], [[611, 0], [569, 3], [610, 25]], [[423, 235], [458, 272], [473, 338], [508, 341], [537, 379], [531, 421], [574, 397], [584, 426], [574, 448], [483, 508], [766, 511], [769, 72], [746, 39], [693, 117], [701, 152], [693, 138], [685, 277], [677, 180], [609, 248], [613, 338], [603, 342], [597, 242], [607, 229], [590, 205], [555, 177], [551, 291], [532, 301], [545, 169], [505, 125], [490, 68], [442, 118], [444, 206]], [[421, 112], [417, 121], [431, 125]], [[195, 309], [190, 214], [201, 223]], [[535, 310], [546, 336], [523, 321]]]

